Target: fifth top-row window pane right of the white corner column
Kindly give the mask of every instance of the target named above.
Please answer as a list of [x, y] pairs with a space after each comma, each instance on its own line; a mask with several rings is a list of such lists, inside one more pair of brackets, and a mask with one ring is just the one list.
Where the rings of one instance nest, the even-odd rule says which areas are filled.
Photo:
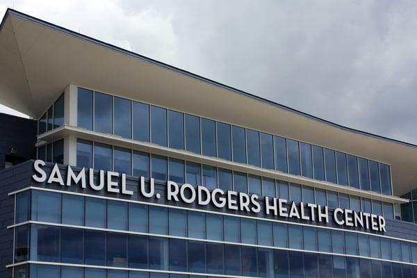
[[151, 142], [167, 145], [167, 110], [151, 106]]

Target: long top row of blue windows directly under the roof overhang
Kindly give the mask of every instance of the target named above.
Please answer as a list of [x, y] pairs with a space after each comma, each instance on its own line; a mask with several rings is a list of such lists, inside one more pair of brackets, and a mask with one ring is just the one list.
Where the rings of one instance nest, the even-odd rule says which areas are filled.
[[83, 88], [78, 94], [78, 122], [85, 129], [392, 194], [389, 165]]

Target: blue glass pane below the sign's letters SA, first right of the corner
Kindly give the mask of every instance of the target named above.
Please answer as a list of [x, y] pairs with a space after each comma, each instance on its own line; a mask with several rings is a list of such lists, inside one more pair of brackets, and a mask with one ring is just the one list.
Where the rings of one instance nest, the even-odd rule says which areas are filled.
[[32, 191], [32, 220], [60, 223], [61, 195], [59, 193]]

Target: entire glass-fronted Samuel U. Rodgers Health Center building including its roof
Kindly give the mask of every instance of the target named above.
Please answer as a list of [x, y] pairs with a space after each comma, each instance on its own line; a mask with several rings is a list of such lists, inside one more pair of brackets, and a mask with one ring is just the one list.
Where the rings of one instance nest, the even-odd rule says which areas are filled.
[[416, 145], [15, 10], [0, 101], [0, 277], [417, 277]]

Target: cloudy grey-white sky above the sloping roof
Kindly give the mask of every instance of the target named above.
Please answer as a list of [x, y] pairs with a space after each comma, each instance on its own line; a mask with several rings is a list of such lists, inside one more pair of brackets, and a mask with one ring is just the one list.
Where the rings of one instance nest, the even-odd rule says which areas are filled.
[[417, 143], [415, 0], [0, 0], [0, 14], [8, 7], [338, 124]]

